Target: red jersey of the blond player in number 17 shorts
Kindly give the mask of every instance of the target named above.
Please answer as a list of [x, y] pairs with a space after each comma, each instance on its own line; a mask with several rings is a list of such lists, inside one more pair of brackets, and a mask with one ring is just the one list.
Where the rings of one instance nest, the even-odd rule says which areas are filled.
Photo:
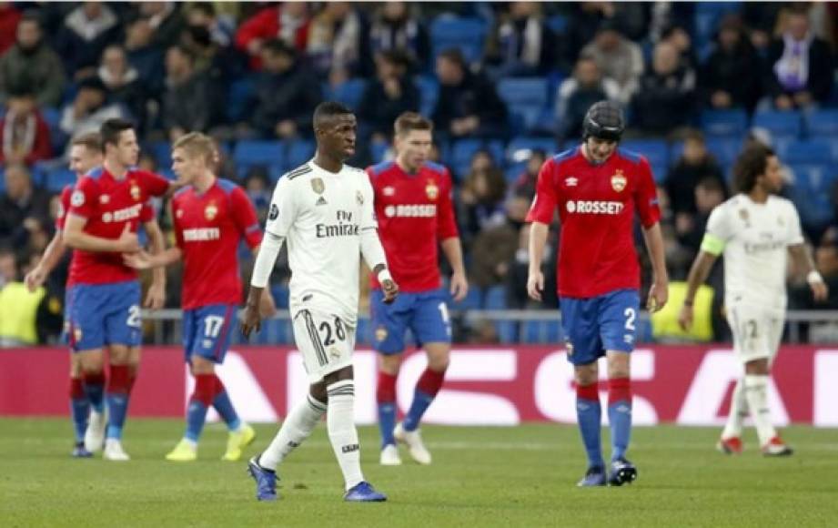
[[183, 309], [239, 304], [238, 244], [244, 239], [255, 249], [262, 242], [256, 209], [245, 191], [220, 178], [204, 193], [182, 188], [172, 198], [172, 222], [183, 251]]

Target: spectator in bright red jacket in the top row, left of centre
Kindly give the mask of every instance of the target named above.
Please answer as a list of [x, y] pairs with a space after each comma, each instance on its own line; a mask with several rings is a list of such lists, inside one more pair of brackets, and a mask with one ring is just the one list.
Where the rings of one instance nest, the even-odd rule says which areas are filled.
[[279, 39], [299, 52], [308, 46], [308, 5], [305, 2], [287, 2], [271, 5], [248, 18], [238, 27], [236, 47], [250, 57], [250, 69], [262, 66], [262, 45]]

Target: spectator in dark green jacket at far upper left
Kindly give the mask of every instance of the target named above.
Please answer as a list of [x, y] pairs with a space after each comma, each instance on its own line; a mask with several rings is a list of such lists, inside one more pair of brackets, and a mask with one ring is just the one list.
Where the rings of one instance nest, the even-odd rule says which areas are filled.
[[56, 107], [64, 93], [64, 66], [44, 42], [37, 15], [26, 13], [17, 25], [17, 41], [0, 57], [0, 99], [9, 86], [28, 82], [35, 88], [38, 107]]

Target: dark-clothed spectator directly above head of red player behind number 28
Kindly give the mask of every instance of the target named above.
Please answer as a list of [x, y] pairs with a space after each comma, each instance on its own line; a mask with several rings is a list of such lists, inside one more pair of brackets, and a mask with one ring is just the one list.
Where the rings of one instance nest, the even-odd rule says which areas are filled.
[[358, 123], [367, 128], [365, 137], [387, 140], [396, 117], [419, 110], [419, 89], [408, 76], [409, 56], [399, 50], [376, 56], [376, 79], [367, 85], [358, 106]]

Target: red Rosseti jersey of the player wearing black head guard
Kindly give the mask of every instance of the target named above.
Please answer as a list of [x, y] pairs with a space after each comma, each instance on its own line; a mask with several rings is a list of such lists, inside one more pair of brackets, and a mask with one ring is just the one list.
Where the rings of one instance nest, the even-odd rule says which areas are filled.
[[644, 228], [661, 219], [645, 157], [618, 148], [593, 165], [581, 147], [544, 162], [528, 222], [550, 224], [559, 209], [559, 295], [590, 298], [617, 289], [640, 289], [634, 249], [634, 213]]

